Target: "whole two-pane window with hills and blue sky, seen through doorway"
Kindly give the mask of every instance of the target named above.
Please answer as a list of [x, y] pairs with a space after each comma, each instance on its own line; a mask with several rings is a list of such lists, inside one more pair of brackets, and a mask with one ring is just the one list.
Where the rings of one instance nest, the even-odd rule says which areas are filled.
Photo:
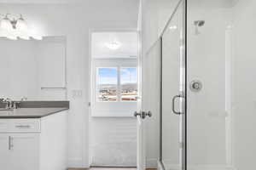
[[97, 101], [136, 101], [136, 67], [98, 67]]

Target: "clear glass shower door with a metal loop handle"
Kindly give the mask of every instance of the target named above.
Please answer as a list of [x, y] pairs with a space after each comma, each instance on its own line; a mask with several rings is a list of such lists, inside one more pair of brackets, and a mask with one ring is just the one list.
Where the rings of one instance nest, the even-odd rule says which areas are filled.
[[162, 35], [161, 162], [166, 170], [185, 169], [184, 2]]

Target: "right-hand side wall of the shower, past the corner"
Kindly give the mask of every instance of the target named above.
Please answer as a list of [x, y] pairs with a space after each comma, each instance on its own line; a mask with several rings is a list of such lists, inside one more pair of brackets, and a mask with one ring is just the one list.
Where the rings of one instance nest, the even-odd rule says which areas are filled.
[[232, 111], [234, 167], [248, 170], [255, 167], [256, 150], [256, 58], [255, 11], [253, 0], [236, 3], [233, 18]]

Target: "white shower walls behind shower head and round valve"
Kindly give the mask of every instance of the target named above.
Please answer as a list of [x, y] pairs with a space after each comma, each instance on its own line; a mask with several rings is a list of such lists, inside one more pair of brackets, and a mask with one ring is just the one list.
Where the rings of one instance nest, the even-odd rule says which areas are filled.
[[[189, 1], [188, 169], [253, 169], [256, 2]], [[195, 35], [195, 20], [205, 20]], [[189, 86], [189, 85], [188, 85]]]

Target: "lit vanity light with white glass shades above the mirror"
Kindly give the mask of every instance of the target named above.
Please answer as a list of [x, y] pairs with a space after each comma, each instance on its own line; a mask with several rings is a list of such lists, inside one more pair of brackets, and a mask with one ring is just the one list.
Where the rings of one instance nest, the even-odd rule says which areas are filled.
[[0, 37], [7, 37], [11, 40], [20, 39], [29, 40], [30, 37], [36, 40], [42, 40], [42, 36], [30, 35], [26, 20], [20, 14], [18, 19], [9, 19], [10, 14], [5, 14], [3, 19], [0, 21]]

